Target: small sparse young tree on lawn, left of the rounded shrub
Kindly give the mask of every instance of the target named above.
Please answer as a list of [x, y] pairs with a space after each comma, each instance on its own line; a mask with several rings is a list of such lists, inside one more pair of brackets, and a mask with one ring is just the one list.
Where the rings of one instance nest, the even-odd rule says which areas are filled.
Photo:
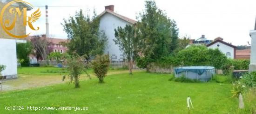
[[[85, 56], [79, 56], [78, 54], [72, 54], [71, 56], [65, 55], [63, 57], [64, 62], [63, 64], [67, 66], [65, 69], [68, 71], [67, 76], [70, 78], [70, 82], [74, 83], [75, 88], [79, 88], [79, 77], [82, 74], [82, 72], [86, 72], [86, 69], [88, 68], [88, 63], [85, 60]], [[87, 76], [90, 78], [90, 75], [86, 72]], [[66, 75], [63, 76], [62, 81], [64, 81], [66, 78]]]

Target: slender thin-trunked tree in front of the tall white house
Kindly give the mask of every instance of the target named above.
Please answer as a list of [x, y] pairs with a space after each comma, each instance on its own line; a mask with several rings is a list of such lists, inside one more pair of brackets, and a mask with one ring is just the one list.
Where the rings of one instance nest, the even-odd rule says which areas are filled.
[[136, 37], [135, 27], [132, 25], [125, 25], [124, 28], [117, 27], [115, 29], [115, 44], [119, 45], [120, 50], [126, 56], [129, 64], [129, 73], [132, 74], [134, 60], [138, 54], [139, 40]]

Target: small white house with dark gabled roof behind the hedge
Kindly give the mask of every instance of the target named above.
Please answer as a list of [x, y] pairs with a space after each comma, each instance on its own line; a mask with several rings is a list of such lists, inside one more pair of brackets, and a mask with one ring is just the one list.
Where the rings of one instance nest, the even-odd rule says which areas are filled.
[[208, 48], [219, 48], [230, 59], [236, 59], [236, 46], [224, 42], [223, 38], [217, 37], [214, 42], [206, 45]]

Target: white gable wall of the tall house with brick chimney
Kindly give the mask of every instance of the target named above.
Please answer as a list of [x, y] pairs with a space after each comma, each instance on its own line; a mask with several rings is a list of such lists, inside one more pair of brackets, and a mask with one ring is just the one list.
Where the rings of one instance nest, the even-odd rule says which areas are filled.
[[108, 36], [108, 46], [104, 52], [109, 54], [110, 59], [113, 61], [122, 61], [124, 59], [123, 53], [113, 39], [115, 39], [115, 28], [118, 26], [124, 27], [126, 24], [129, 23], [108, 12], [101, 16], [100, 30], [105, 31], [106, 36]]

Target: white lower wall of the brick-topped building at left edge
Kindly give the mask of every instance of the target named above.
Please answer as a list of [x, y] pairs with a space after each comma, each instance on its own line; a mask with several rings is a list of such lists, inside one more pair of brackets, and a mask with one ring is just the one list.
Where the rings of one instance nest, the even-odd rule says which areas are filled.
[[16, 42], [14, 39], [0, 38], [0, 65], [6, 66], [2, 72], [8, 78], [17, 77]]

